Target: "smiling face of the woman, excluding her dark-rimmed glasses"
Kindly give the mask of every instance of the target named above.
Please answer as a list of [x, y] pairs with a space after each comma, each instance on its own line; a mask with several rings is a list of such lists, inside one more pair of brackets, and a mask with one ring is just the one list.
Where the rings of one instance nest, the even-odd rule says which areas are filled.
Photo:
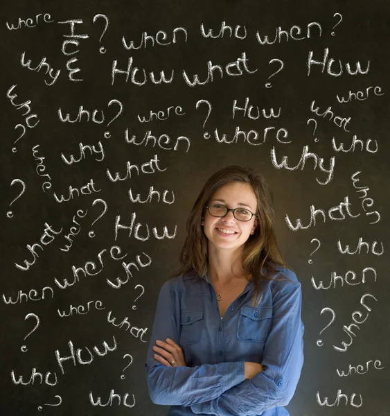
[[[218, 188], [206, 205], [220, 204], [228, 208], [247, 209], [256, 213], [257, 200], [251, 185], [243, 182], [231, 182]], [[204, 233], [209, 239], [210, 244], [217, 249], [236, 250], [242, 246], [254, 229], [258, 220], [252, 216], [249, 221], [240, 221], [229, 211], [224, 217], [215, 217], [209, 213], [209, 209], [204, 209]], [[234, 234], [224, 234], [223, 231], [233, 231]]]

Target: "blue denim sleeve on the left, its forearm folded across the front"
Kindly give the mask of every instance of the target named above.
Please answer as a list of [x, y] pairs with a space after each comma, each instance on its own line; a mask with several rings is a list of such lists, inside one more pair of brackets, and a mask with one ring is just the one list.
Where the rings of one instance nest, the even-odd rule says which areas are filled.
[[150, 399], [154, 404], [190, 406], [220, 397], [245, 380], [243, 361], [204, 364], [195, 367], [166, 367], [154, 359], [156, 340], [170, 338], [179, 345], [180, 306], [170, 281], [163, 284], [157, 302], [152, 336], [145, 363]]

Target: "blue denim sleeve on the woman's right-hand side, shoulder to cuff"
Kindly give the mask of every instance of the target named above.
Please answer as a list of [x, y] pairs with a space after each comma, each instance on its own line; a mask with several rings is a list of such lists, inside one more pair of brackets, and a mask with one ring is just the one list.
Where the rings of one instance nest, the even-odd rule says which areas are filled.
[[303, 365], [301, 283], [274, 296], [272, 329], [265, 342], [263, 372], [220, 397], [191, 406], [193, 413], [221, 416], [260, 415], [286, 406], [294, 395]]

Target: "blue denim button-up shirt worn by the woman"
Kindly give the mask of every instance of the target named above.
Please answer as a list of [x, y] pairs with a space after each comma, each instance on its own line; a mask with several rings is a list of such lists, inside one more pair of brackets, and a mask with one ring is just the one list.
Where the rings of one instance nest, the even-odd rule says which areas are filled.
[[[260, 286], [257, 308], [249, 280], [223, 319], [207, 271], [163, 284], [145, 363], [153, 403], [170, 405], [169, 416], [289, 415], [283, 406], [303, 365], [301, 283], [291, 270], [276, 269], [278, 275]], [[152, 347], [166, 338], [183, 349], [186, 367], [154, 359]], [[245, 361], [261, 363], [263, 372], [245, 380]]]

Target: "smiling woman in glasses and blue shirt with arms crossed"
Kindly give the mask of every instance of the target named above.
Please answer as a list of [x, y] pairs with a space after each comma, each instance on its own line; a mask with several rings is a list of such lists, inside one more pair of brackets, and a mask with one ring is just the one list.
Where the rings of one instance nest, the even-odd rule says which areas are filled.
[[210, 177], [187, 220], [181, 270], [163, 284], [145, 363], [169, 415], [289, 415], [303, 365], [301, 284], [250, 168]]

